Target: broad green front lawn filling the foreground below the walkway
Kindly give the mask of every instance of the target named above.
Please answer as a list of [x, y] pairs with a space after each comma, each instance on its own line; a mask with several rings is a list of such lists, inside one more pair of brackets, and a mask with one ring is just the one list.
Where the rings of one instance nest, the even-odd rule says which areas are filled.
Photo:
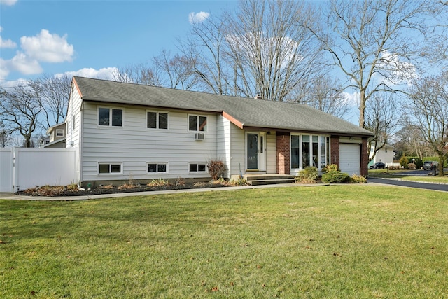
[[1, 298], [447, 298], [448, 193], [0, 200]]

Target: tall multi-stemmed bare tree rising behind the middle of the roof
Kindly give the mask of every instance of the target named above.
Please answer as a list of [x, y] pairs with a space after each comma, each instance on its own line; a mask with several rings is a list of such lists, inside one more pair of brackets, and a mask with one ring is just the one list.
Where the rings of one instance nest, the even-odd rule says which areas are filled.
[[237, 88], [272, 101], [288, 100], [299, 84], [315, 74], [318, 43], [306, 27], [316, 22], [303, 1], [242, 1], [228, 18], [228, 59]]

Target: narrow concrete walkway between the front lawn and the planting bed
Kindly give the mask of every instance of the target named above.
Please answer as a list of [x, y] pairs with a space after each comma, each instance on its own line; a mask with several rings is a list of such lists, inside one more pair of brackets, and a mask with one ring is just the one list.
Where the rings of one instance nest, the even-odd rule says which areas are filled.
[[281, 183], [276, 185], [260, 185], [260, 186], [235, 186], [235, 187], [216, 187], [216, 188], [196, 188], [196, 189], [181, 189], [181, 190], [160, 190], [160, 191], [144, 191], [132, 193], [112, 193], [99, 194], [87, 196], [27, 196], [16, 195], [14, 193], [0, 193], [0, 200], [41, 200], [41, 201], [64, 201], [64, 200], [97, 200], [102, 198], [116, 198], [128, 196], [146, 196], [158, 194], [176, 194], [176, 193], [197, 193], [197, 192], [211, 192], [211, 191], [229, 191], [229, 190], [244, 190], [244, 189], [258, 189], [258, 188], [284, 188], [284, 187], [316, 187], [327, 186], [328, 184], [299, 184], [299, 183]]

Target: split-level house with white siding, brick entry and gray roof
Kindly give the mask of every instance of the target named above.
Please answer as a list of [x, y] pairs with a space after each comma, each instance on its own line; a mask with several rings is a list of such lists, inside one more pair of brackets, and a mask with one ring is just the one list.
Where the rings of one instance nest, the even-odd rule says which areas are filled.
[[78, 148], [78, 183], [209, 180], [297, 174], [337, 164], [367, 175], [373, 134], [303, 104], [73, 77], [66, 147]]

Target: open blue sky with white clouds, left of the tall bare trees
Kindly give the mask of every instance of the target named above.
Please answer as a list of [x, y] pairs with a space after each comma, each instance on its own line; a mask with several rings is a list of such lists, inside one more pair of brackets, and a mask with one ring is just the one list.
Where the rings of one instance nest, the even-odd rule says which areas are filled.
[[66, 72], [102, 78], [163, 49], [176, 52], [190, 18], [236, 6], [236, 0], [0, 0], [0, 85]]

